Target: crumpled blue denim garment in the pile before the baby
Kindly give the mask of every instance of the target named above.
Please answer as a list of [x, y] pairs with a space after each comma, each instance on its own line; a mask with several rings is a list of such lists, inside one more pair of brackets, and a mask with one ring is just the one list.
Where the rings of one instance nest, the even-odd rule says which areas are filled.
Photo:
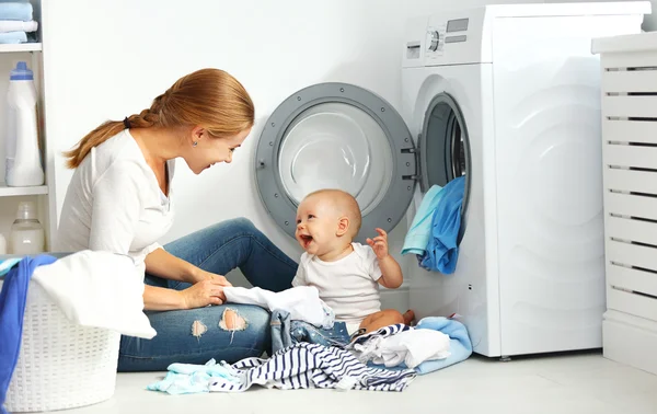
[[272, 353], [290, 347], [301, 342], [324, 346], [343, 347], [350, 341], [347, 325], [334, 322], [333, 329], [316, 327], [308, 322], [290, 320], [285, 310], [272, 312]]

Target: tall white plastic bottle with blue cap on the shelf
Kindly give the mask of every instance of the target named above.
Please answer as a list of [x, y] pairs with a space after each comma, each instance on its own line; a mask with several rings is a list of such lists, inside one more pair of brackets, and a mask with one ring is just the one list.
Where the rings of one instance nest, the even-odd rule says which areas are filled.
[[20, 61], [12, 69], [7, 92], [7, 185], [12, 187], [44, 184], [38, 148], [36, 89], [34, 73]]

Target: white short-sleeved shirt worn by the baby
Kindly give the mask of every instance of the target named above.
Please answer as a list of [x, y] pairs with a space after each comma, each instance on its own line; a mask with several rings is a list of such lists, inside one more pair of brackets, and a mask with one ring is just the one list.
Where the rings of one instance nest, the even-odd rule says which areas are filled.
[[303, 253], [292, 286], [314, 286], [335, 312], [335, 319], [359, 324], [381, 310], [379, 284], [381, 269], [369, 245], [351, 243], [354, 252], [335, 262], [323, 262]]

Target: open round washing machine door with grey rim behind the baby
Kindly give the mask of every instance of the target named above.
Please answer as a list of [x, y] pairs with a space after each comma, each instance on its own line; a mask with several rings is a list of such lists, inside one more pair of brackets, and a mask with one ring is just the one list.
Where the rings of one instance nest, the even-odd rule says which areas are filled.
[[263, 129], [255, 153], [261, 199], [295, 237], [297, 206], [316, 189], [339, 188], [358, 202], [357, 240], [392, 230], [416, 182], [415, 148], [401, 115], [377, 94], [346, 83], [315, 84], [286, 99]]

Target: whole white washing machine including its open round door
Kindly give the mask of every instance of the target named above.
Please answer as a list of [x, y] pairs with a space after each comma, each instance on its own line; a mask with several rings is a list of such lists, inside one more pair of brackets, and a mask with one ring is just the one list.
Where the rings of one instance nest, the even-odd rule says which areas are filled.
[[291, 94], [257, 142], [261, 200], [293, 237], [303, 196], [342, 188], [358, 200], [362, 229], [391, 231], [431, 186], [464, 175], [456, 272], [412, 266], [411, 308], [458, 318], [486, 356], [600, 347], [600, 73], [590, 41], [639, 32], [649, 10], [517, 4], [414, 19], [401, 45], [400, 112], [348, 83]]

